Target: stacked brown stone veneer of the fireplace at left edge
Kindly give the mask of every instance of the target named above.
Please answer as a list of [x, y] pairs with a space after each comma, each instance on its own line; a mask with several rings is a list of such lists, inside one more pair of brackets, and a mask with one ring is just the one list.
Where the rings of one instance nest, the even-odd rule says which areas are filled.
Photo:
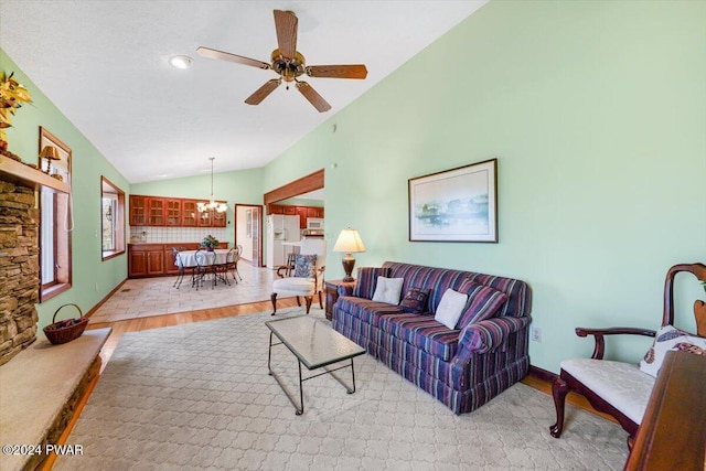
[[0, 179], [0, 365], [36, 340], [39, 270], [34, 190]]

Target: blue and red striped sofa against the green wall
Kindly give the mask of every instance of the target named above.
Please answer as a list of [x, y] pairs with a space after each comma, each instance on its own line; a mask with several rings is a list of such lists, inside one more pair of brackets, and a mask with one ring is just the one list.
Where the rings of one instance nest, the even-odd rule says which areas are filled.
[[[408, 313], [399, 306], [372, 301], [377, 276], [404, 278], [403, 296], [413, 287], [430, 289], [426, 312]], [[469, 279], [502, 291], [506, 300], [494, 317], [450, 330], [434, 313], [448, 288]], [[386, 261], [379, 268], [359, 269], [355, 287], [339, 288], [332, 322], [367, 353], [462, 414], [527, 374], [531, 302], [530, 287], [516, 279]]]

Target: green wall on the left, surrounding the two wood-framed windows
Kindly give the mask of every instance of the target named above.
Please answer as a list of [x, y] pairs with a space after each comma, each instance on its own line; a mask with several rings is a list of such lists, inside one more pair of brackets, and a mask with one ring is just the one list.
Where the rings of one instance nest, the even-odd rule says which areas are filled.
[[126, 255], [101, 260], [100, 176], [108, 178], [126, 193], [129, 191], [129, 183], [2, 50], [0, 69], [6, 74], [14, 72], [18, 82], [32, 96], [32, 103], [18, 110], [12, 128], [7, 130], [9, 150], [20, 156], [24, 162], [38, 163], [39, 129], [42, 126], [64, 141], [73, 152], [73, 288], [36, 304], [41, 332], [44, 325], [51, 323], [52, 315], [60, 306], [74, 302], [86, 313], [126, 279]]

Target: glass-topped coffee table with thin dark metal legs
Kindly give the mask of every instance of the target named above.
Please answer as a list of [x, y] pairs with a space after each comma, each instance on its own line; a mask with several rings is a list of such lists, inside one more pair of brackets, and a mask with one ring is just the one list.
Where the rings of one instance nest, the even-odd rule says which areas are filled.
[[[282, 388], [289, 402], [295, 406], [296, 414], [299, 416], [304, 411], [304, 396], [302, 383], [314, 377], [330, 374], [339, 383], [341, 383], [346, 393], [355, 393], [355, 371], [353, 368], [353, 358], [365, 353], [365, 349], [350, 341], [344, 335], [331, 329], [323, 321], [315, 320], [309, 315], [298, 315], [295, 318], [278, 319], [276, 321], [265, 322], [269, 332], [269, 351], [267, 353], [267, 370], [270, 376], [275, 377], [279, 387]], [[279, 339], [279, 342], [272, 343], [272, 336]], [[299, 364], [299, 404], [297, 404], [293, 395], [287, 389], [281, 378], [271, 368], [270, 361], [272, 358], [272, 346], [285, 345], [297, 357]], [[328, 366], [335, 363], [350, 360], [342, 366], [329, 368]], [[309, 371], [323, 368], [324, 371], [312, 376], [301, 376], [301, 365]], [[351, 368], [351, 379], [353, 386], [349, 387], [343, 381], [333, 374], [333, 372]]]

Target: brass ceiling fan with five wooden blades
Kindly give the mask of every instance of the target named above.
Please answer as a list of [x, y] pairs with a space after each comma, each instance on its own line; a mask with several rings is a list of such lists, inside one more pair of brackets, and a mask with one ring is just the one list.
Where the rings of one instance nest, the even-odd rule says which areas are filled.
[[204, 46], [200, 46], [196, 52], [202, 57], [235, 62], [236, 64], [250, 65], [264, 69], [269, 68], [279, 75], [279, 78], [268, 81], [247, 97], [245, 103], [248, 105], [259, 105], [284, 81], [287, 84], [287, 89], [289, 89], [289, 83], [293, 82], [297, 89], [319, 113], [328, 111], [331, 109], [331, 105], [311, 85], [300, 81], [299, 76], [306, 74], [310, 77], [365, 78], [367, 68], [363, 64], [307, 65], [304, 56], [297, 51], [297, 26], [298, 20], [293, 12], [275, 10], [275, 29], [277, 30], [277, 44], [279, 47], [272, 51], [271, 64]]

